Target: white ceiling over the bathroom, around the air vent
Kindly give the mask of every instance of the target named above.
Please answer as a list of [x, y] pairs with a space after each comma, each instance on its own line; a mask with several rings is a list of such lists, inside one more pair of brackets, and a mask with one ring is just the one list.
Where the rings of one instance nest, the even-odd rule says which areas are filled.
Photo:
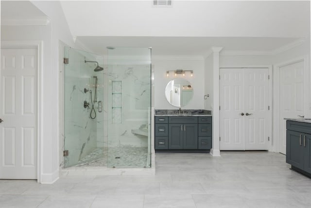
[[[158, 56], [222, 53], [273, 54], [310, 39], [310, 1], [152, 0], [60, 1], [77, 43], [96, 54], [107, 46], [152, 47]], [[44, 14], [30, 1], [1, 1], [1, 18]]]

